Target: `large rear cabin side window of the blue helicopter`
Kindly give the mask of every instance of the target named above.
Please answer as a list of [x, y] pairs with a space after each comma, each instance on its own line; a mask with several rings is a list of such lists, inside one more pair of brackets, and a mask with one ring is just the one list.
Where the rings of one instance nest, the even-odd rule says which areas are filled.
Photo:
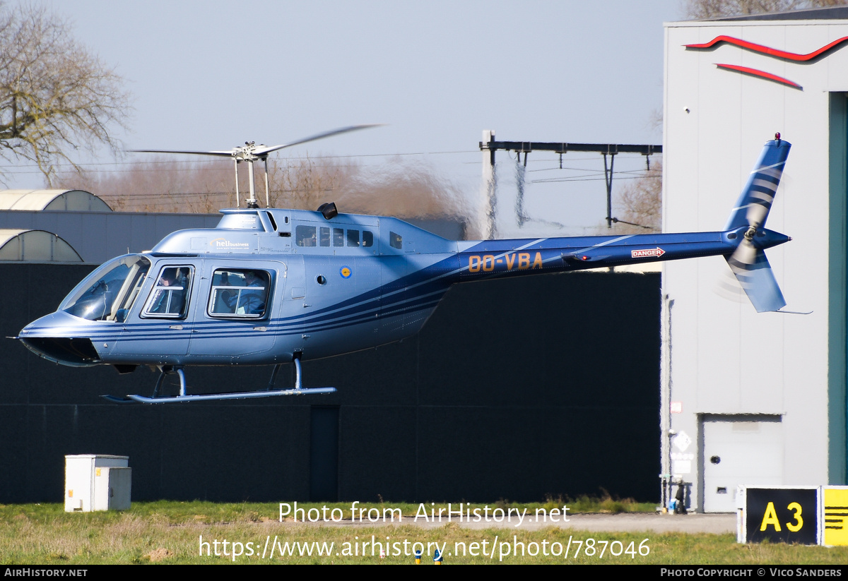
[[248, 268], [219, 268], [212, 275], [209, 315], [226, 318], [262, 318], [271, 274]]

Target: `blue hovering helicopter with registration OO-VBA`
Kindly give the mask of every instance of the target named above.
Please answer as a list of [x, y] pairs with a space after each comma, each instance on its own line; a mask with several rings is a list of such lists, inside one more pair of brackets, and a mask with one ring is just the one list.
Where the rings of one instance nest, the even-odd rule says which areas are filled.
[[[15, 339], [71, 367], [157, 368], [152, 396], [103, 397], [159, 404], [332, 393], [304, 387], [301, 361], [415, 335], [451, 285], [471, 280], [722, 256], [757, 312], [787, 313], [765, 255], [791, 240], [764, 227], [791, 147], [779, 133], [763, 147], [727, 224], [713, 232], [449, 241], [400, 219], [339, 213], [332, 202], [314, 212], [268, 208], [267, 178], [266, 208], [259, 208], [254, 162], [370, 126], [282, 146], [190, 152], [231, 157], [236, 174], [247, 162], [247, 208], [223, 209], [213, 229], [178, 230], [150, 251], [104, 263]], [[276, 389], [277, 373], [290, 363], [293, 388]], [[265, 389], [187, 393], [185, 368], [209, 365], [274, 367]], [[165, 395], [174, 373], [179, 394]]]

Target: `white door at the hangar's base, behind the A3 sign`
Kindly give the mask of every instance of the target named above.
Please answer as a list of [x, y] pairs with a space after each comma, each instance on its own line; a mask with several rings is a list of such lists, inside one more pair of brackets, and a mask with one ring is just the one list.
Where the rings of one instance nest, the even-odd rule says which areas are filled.
[[735, 512], [739, 484], [783, 484], [780, 416], [704, 414], [700, 434], [704, 512]]

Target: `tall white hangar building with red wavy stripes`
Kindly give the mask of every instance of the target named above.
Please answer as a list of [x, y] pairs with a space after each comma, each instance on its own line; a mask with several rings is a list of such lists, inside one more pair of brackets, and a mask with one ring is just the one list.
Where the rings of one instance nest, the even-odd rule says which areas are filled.
[[812, 313], [756, 313], [722, 290], [722, 257], [665, 263], [663, 474], [704, 512], [734, 511], [738, 484], [845, 484], [848, 8], [674, 22], [665, 41], [663, 230], [722, 230], [779, 131], [766, 227], [793, 240], [766, 254], [784, 310]]

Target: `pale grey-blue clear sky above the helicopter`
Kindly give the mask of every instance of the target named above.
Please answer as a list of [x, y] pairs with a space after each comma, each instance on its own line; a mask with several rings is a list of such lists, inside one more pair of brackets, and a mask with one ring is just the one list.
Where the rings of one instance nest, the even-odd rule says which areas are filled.
[[[431, 152], [422, 163], [470, 195], [485, 129], [501, 140], [661, 142], [649, 119], [662, 104], [662, 23], [679, 18], [669, 0], [45, 3], [126, 77], [126, 147], [228, 149], [385, 123], [287, 154]], [[603, 170], [600, 156], [581, 163]], [[605, 214], [602, 180], [595, 189], [591, 208], [573, 208], [582, 224]]]

